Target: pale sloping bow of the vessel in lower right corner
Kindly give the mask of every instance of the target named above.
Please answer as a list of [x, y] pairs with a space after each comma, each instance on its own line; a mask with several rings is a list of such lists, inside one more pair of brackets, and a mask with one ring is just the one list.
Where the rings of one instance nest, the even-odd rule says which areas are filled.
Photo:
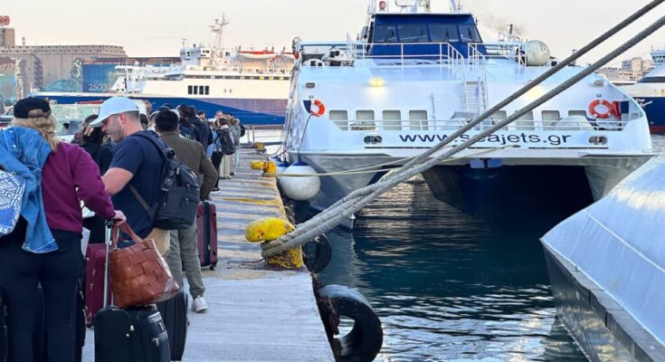
[[665, 360], [665, 159], [541, 239], [556, 313], [591, 361]]

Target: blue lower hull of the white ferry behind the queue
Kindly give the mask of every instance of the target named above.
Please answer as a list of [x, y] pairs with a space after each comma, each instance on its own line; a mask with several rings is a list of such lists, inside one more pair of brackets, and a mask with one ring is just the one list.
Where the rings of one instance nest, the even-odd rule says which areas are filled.
[[[106, 100], [105, 95], [35, 95], [37, 98], [48, 99], [59, 104], [73, 104], [82, 101]], [[242, 124], [256, 125], [280, 125], [284, 124], [287, 100], [224, 100], [224, 99], [192, 99], [184, 97], [145, 97], [140, 95], [129, 96], [137, 100], [148, 100], [153, 109], [168, 103], [173, 107], [179, 104], [192, 105], [196, 110], [204, 110], [208, 118], [213, 118], [214, 113], [222, 110], [225, 113], [233, 113], [233, 116], [241, 120]]]

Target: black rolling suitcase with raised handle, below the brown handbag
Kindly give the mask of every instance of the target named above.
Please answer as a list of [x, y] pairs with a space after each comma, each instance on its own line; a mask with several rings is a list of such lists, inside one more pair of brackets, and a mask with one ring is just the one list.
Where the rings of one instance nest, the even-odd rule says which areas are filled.
[[[109, 226], [109, 225], [108, 225]], [[110, 230], [106, 228], [106, 260]], [[109, 298], [109, 263], [104, 267], [104, 305], [94, 321], [95, 362], [168, 362], [168, 334], [159, 310], [153, 306], [119, 309]]]

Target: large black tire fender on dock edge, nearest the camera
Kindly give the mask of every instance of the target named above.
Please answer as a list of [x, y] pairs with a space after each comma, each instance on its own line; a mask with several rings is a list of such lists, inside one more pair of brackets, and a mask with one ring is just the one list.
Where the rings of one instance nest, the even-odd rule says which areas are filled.
[[354, 321], [353, 329], [346, 336], [332, 339], [337, 344], [333, 346], [335, 360], [373, 361], [384, 344], [384, 329], [369, 301], [359, 291], [343, 285], [327, 285], [318, 290], [318, 295], [328, 298], [337, 312], [337, 326], [327, 330], [338, 330], [341, 317]]

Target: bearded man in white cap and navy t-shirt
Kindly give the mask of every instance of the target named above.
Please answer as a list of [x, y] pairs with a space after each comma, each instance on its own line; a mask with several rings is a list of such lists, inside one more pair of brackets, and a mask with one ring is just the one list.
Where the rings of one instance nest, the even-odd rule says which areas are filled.
[[145, 138], [157, 139], [143, 130], [139, 117], [136, 102], [113, 97], [101, 104], [100, 116], [90, 127], [101, 127], [118, 143], [109, 170], [101, 177], [113, 205], [127, 215], [127, 223], [138, 236], [155, 240], [159, 252], [166, 255], [169, 233], [154, 227], [147, 212], [157, 202], [164, 160], [155, 144]]

